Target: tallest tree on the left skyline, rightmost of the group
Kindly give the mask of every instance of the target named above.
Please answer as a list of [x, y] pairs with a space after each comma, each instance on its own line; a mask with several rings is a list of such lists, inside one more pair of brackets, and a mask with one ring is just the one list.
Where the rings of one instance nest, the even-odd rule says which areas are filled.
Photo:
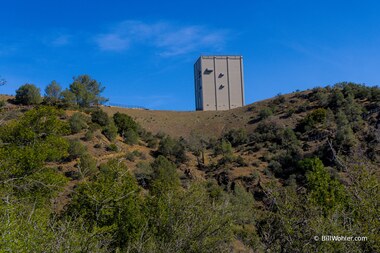
[[100, 94], [104, 91], [98, 81], [92, 79], [89, 75], [74, 77], [74, 82], [70, 85], [70, 91], [74, 93], [76, 102], [81, 107], [99, 105], [107, 101]]

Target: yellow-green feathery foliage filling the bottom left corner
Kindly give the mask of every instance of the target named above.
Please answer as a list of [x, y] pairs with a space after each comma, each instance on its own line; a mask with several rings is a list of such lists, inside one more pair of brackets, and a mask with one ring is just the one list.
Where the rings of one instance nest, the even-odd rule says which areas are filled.
[[47, 208], [8, 203], [0, 208], [0, 248], [4, 252], [109, 252], [110, 238], [93, 235], [78, 220], [51, 218]]

